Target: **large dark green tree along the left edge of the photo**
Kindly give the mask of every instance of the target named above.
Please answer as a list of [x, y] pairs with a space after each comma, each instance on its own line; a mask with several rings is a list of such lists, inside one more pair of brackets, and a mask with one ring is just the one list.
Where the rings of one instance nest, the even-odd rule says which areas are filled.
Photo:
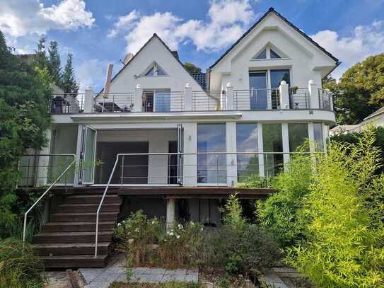
[[45, 144], [50, 127], [47, 69], [33, 68], [11, 53], [0, 31], [0, 238], [16, 221], [18, 161], [28, 148]]

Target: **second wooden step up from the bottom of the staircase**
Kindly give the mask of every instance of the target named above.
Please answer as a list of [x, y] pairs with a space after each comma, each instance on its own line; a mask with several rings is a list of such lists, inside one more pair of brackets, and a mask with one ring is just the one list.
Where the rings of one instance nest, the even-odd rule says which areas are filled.
[[[98, 243], [98, 254], [108, 253], [110, 242]], [[92, 255], [95, 253], [95, 243], [40, 243], [32, 244], [38, 255]]]

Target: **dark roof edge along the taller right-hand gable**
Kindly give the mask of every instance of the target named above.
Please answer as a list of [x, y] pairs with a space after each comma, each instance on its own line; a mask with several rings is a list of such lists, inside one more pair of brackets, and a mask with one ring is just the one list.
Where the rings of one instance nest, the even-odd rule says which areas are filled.
[[269, 8], [268, 11], [266, 13], [264, 13], [264, 15], [255, 23], [252, 25], [251, 28], [249, 28], [247, 30], [247, 32], [245, 32], [231, 47], [229, 47], [228, 50], [226, 50], [226, 52], [224, 52], [224, 54], [221, 55], [221, 57], [219, 59], [216, 60], [216, 62], [214, 62], [214, 64], [211, 65], [211, 67], [209, 67], [209, 69], [212, 69], [216, 66], [216, 64], [218, 64], [221, 59], [223, 59], [224, 57], [226, 57], [226, 54], [228, 54], [229, 52], [231, 52], [231, 50], [233, 50], [233, 48], [238, 45], [238, 43], [243, 40], [243, 38], [245, 38], [245, 36], [247, 36], [257, 25], [259, 25], [259, 23], [261, 21], [264, 20], [264, 18], [266, 18], [269, 13], [274, 13], [276, 16], [278, 16], [279, 18], [281, 18], [281, 20], [283, 20], [285, 23], [287, 23], [288, 25], [290, 25], [294, 30], [296, 30], [298, 33], [300, 33], [301, 35], [303, 35], [307, 40], [309, 40], [313, 45], [315, 45], [316, 47], [318, 47], [322, 52], [324, 52], [325, 54], [327, 54], [327, 56], [329, 56], [330, 58], [332, 58], [334, 60], [334, 62], [336, 62], [336, 66], [338, 66], [341, 62], [339, 62], [339, 59], [337, 59], [336, 57], [334, 57], [330, 52], [327, 52], [327, 50], [325, 50], [323, 47], [321, 47], [317, 42], [315, 42], [312, 38], [310, 38], [308, 35], [306, 35], [306, 33], [303, 33], [302, 30], [300, 30], [299, 28], [297, 28], [295, 25], [293, 25], [291, 22], [289, 22], [286, 18], [284, 18], [283, 16], [281, 16], [280, 13], [278, 13], [277, 11], [274, 10], [273, 7]]

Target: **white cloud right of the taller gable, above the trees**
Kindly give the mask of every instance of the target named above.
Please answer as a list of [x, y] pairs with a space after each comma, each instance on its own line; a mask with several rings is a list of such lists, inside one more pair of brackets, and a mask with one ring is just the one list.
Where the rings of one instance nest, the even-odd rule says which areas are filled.
[[356, 62], [384, 52], [384, 21], [358, 25], [349, 37], [340, 37], [332, 30], [322, 30], [310, 37], [342, 61], [342, 65], [332, 73], [339, 79]]

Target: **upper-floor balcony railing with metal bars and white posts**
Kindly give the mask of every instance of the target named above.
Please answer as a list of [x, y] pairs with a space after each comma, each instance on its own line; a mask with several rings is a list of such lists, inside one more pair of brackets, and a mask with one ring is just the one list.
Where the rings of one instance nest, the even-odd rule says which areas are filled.
[[[229, 84], [229, 83], [228, 83]], [[180, 113], [204, 111], [327, 110], [333, 111], [332, 94], [310, 82], [308, 88], [289, 87], [284, 81], [274, 89], [221, 91], [144, 91], [55, 94], [52, 114], [76, 113]]]

